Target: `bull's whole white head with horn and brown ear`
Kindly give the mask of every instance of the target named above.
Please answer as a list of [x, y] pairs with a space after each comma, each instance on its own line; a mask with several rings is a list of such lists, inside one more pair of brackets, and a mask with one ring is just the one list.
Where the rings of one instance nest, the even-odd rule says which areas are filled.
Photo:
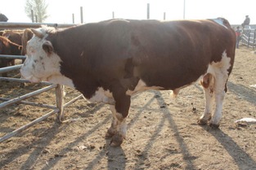
[[34, 36], [28, 41], [25, 63], [21, 75], [32, 82], [49, 81], [52, 76], [61, 75], [61, 59], [54, 52], [51, 41], [47, 41], [47, 28], [31, 29]]

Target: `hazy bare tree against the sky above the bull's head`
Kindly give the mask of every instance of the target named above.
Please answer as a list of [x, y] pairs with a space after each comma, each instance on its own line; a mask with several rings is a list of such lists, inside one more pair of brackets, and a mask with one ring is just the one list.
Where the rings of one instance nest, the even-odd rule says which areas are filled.
[[[47, 7], [48, 4], [45, 0], [26, 0], [25, 13], [32, 21], [34, 21], [33, 17], [35, 16], [39, 23], [43, 23], [43, 21], [49, 17], [49, 15], [47, 15]], [[34, 12], [34, 15], [31, 11]]]

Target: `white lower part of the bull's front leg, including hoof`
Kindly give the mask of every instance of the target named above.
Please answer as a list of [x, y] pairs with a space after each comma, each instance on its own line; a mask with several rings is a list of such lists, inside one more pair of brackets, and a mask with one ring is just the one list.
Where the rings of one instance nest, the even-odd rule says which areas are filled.
[[113, 120], [106, 136], [115, 137], [112, 138], [111, 146], [119, 146], [119, 142], [123, 142], [126, 137], [126, 118], [123, 118], [122, 114], [115, 110], [115, 105], [110, 105], [110, 111], [112, 111]]

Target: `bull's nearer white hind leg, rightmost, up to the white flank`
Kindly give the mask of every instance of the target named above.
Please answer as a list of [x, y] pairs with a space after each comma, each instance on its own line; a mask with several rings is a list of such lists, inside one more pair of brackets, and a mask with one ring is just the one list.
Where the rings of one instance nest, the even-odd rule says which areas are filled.
[[213, 113], [210, 124], [219, 125], [220, 120], [222, 119], [222, 104], [225, 96], [225, 84], [228, 78], [227, 70], [231, 67], [231, 59], [227, 57], [226, 50], [222, 53], [222, 60], [218, 63], [213, 63], [214, 72], [215, 72], [215, 84], [214, 84], [214, 94], [216, 108]]

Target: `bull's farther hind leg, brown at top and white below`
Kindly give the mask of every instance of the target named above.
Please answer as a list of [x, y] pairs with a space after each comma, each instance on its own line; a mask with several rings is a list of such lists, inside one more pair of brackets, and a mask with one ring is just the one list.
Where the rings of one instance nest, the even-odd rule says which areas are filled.
[[202, 80], [200, 81], [201, 85], [204, 88], [204, 98], [205, 98], [205, 106], [204, 106], [204, 114], [198, 120], [198, 124], [207, 124], [207, 122], [211, 119], [211, 114], [213, 111], [213, 98], [214, 98], [214, 78], [211, 74], [206, 74]]

